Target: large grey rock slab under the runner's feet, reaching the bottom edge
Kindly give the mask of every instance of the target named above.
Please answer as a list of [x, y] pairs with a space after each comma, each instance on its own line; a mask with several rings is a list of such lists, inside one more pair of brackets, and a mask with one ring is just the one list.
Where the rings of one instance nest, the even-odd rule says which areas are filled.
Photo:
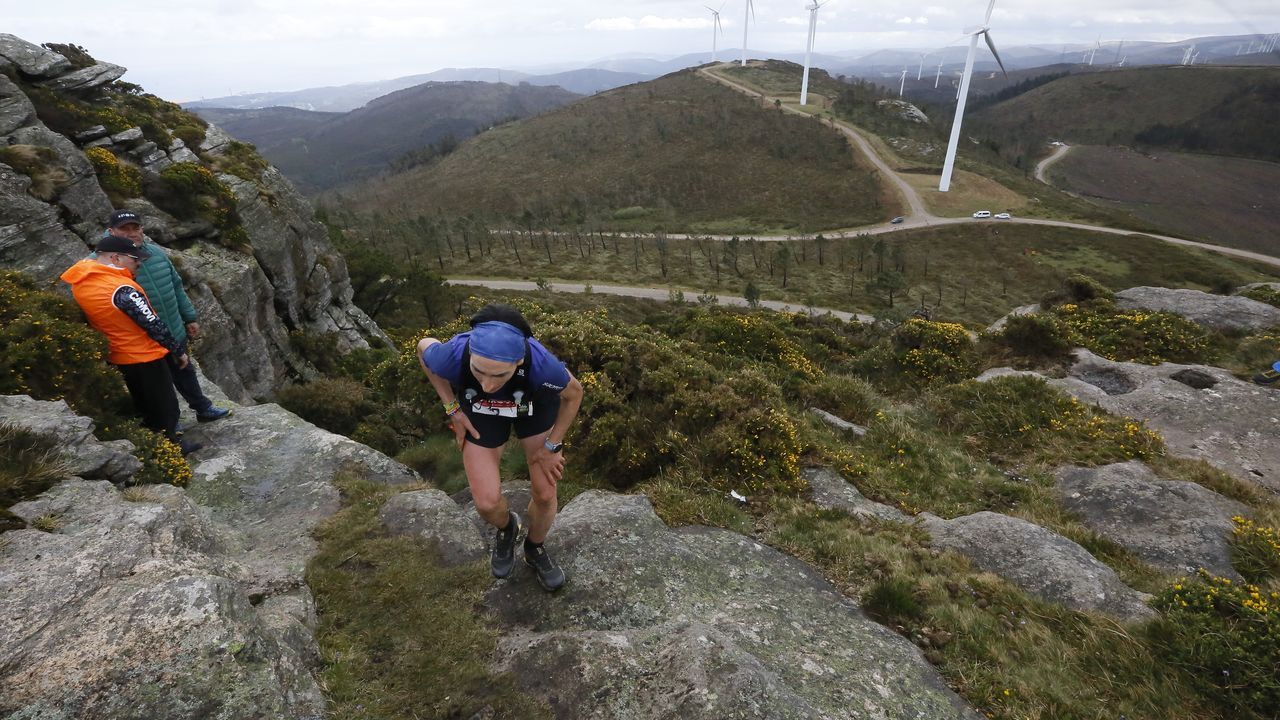
[[527, 569], [489, 592], [497, 665], [559, 719], [977, 717], [906, 639], [803, 562], [708, 528], [667, 528], [639, 496], [590, 491]]

